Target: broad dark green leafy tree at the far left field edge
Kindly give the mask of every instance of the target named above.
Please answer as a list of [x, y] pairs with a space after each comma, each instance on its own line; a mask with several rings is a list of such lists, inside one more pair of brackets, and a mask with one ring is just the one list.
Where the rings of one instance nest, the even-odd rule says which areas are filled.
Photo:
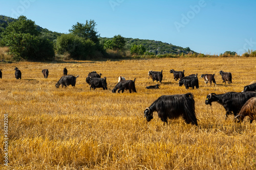
[[2, 33], [3, 45], [9, 46], [14, 60], [49, 60], [54, 57], [53, 44], [40, 38], [34, 21], [19, 16], [17, 21], [9, 23]]

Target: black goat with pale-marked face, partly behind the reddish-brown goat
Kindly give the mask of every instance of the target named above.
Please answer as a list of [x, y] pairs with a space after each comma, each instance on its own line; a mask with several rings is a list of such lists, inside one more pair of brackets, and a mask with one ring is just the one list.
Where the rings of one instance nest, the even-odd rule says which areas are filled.
[[225, 108], [227, 118], [227, 116], [232, 113], [236, 116], [245, 102], [254, 96], [256, 96], [256, 92], [210, 93], [206, 96], [205, 104], [211, 106], [212, 102], [218, 102]]

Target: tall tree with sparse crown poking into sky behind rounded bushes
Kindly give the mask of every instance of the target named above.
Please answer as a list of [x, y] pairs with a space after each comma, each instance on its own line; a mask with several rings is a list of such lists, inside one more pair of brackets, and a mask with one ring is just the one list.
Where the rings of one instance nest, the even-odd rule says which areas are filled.
[[97, 25], [94, 20], [86, 20], [85, 24], [77, 22], [76, 25], [72, 26], [72, 29], [70, 29], [69, 32], [78, 37], [91, 39], [93, 42], [98, 43], [100, 34], [96, 31], [95, 26]]

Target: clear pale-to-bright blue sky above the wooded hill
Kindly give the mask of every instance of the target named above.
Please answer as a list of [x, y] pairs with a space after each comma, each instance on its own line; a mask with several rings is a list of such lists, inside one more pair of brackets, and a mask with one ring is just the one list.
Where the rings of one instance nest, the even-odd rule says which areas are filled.
[[0, 0], [0, 14], [25, 15], [60, 33], [94, 19], [101, 37], [157, 40], [204, 54], [256, 50], [256, 0]]

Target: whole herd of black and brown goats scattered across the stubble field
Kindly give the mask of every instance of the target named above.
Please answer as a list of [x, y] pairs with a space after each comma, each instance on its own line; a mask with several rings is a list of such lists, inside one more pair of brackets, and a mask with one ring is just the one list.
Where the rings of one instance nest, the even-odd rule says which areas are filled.
[[[2, 70], [2, 69], [1, 69]], [[0, 70], [0, 78], [2, 79], [2, 71]], [[198, 83], [198, 74], [193, 74], [189, 76], [184, 76], [183, 71], [175, 71], [171, 69], [169, 71], [173, 73], [175, 81], [179, 80], [179, 86], [184, 84], [185, 88], [188, 89], [191, 87], [192, 89], [199, 88]], [[45, 78], [48, 77], [49, 71], [48, 69], [43, 69], [42, 74]], [[222, 80], [224, 83], [226, 81], [228, 83], [232, 83], [232, 75], [230, 72], [220, 71], [220, 75], [222, 76]], [[152, 71], [148, 72], [148, 79], [152, 79], [153, 82], [156, 80], [157, 82], [162, 83], [162, 70], [161, 71]], [[67, 68], [63, 69], [63, 76], [59, 79], [59, 81], [55, 84], [56, 88], [65, 86], [75, 86], [76, 79], [78, 76], [68, 75]], [[201, 78], [204, 78], [205, 83], [208, 82], [211, 84], [215, 83], [215, 74], [203, 74]], [[15, 78], [22, 79], [22, 72], [15, 67]], [[135, 88], [135, 80], [125, 80], [124, 77], [120, 76], [118, 78], [118, 83], [112, 90], [115, 93], [118, 90], [118, 93], [124, 90], [129, 90], [129, 92], [137, 92]], [[96, 71], [92, 71], [88, 74], [86, 78], [86, 82], [91, 85], [91, 88], [103, 88], [103, 90], [108, 89], [106, 78], [101, 78], [101, 74], [97, 74]], [[159, 84], [154, 86], [147, 86], [146, 89], [158, 89]], [[256, 82], [252, 82], [250, 85], [244, 87], [242, 92], [227, 92], [224, 94], [216, 94], [210, 93], [206, 96], [205, 104], [210, 105], [212, 102], [218, 102], [221, 104], [226, 110], [226, 118], [229, 114], [234, 114], [234, 118], [236, 122], [242, 122], [245, 116], [250, 118], [250, 123], [254, 119], [256, 119]], [[197, 118], [195, 114], [195, 101], [192, 93], [186, 94], [174, 94], [174, 95], [162, 95], [160, 96], [150, 107], [147, 107], [144, 110], [144, 117], [146, 117], [147, 122], [150, 122], [153, 119], [153, 112], [156, 111], [158, 113], [159, 118], [167, 124], [167, 118], [173, 119], [182, 117], [187, 124], [198, 125]]]

